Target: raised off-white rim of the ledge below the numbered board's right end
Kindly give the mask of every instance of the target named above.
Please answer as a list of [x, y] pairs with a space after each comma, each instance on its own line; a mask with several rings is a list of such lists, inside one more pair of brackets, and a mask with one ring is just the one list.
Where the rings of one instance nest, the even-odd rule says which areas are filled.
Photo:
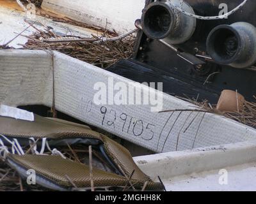
[[221, 170], [256, 161], [256, 141], [168, 152], [133, 158], [140, 169], [156, 180]]

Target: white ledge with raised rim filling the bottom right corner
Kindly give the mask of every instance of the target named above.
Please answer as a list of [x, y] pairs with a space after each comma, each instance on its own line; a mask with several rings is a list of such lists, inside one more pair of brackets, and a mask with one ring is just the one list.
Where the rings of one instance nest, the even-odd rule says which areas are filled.
[[256, 142], [204, 147], [133, 158], [167, 191], [255, 191]]

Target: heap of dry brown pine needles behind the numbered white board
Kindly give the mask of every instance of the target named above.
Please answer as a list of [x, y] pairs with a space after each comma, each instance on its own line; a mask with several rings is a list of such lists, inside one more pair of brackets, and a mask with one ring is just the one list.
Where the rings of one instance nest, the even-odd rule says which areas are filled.
[[28, 42], [22, 45], [24, 48], [57, 50], [100, 68], [108, 68], [120, 59], [131, 57], [136, 40], [136, 30], [124, 37], [104, 31], [100, 36], [92, 35], [92, 38], [87, 39], [70, 35], [58, 36], [51, 29], [36, 30], [32, 36], [26, 36]]

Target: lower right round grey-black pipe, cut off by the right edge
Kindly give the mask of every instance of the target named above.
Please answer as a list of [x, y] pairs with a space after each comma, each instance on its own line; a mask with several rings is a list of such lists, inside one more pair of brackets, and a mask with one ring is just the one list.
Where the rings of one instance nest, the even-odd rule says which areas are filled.
[[208, 54], [218, 64], [248, 68], [256, 63], [256, 27], [247, 22], [215, 27], [206, 45]]

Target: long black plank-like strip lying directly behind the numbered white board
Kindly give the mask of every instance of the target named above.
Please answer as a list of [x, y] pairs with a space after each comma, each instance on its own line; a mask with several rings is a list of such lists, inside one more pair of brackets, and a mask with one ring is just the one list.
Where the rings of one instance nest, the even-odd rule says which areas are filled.
[[187, 80], [185, 82], [184, 78], [179, 79], [173, 78], [172, 75], [164, 73], [161, 70], [156, 71], [149, 67], [138, 64], [136, 61], [132, 60], [122, 60], [111, 66], [108, 69], [113, 73], [121, 75], [125, 78], [134, 80], [135, 82], [163, 82], [163, 91], [172, 96], [180, 96], [183, 98], [194, 98], [202, 101], [205, 98], [209, 99], [212, 103], [218, 101], [218, 92], [214, 90], [205, 91], [200, 89], [200, 84]]

